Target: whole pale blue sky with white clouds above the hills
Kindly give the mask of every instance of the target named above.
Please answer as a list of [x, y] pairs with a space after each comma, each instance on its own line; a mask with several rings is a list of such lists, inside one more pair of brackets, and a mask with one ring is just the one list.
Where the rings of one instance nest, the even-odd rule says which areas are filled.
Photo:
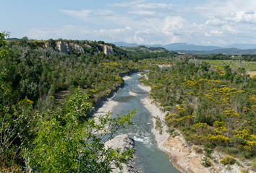
[[255, 0], [0, 0], [0, 32], [146, 45], [256, 43]]

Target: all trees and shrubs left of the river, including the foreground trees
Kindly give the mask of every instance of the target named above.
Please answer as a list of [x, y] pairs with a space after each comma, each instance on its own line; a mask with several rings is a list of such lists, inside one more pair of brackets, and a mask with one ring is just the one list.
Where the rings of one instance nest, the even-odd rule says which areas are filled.
[[135, 112], [98, 123], [88, 112], [123, 83], [122, 74], [145, 65], [118, 48], [120, 54], [101, 53], [102, 42], [65, 40], [90, 45], [69, 55], [54, 50], [56, 40], [7, 42], [8, 35], [0, 33], [0, 172], [111, 172], [111, 164], [129, 161], [134, 151], [104, 143], [131, 124]]

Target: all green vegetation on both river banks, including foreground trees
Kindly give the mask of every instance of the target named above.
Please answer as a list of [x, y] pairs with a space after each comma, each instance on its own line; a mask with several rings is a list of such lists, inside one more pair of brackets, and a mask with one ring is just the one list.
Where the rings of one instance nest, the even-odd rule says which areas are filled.
[[[176, 56], [163, 48], [117, 48], [103, 41], [4, 40], [0, 33], [0, 172], [111, 172], [134, 151], [105, 148], [118, 128], [132, 123], [108, 114], [90, 119], [93, 104], [123, 84], [121, 76], [145, 72], [150, 97], [167, 112], [171, 136], [182, 131], [210, 167], [218, 149], [230, 156], [256, 156], [255, 56]], [[76, 44], [84, 53], [56, 51], [57, 41]], [[106, 55], [110, 46], [114, 54]], [[200, 60], [197, 60], [200, 59]], [[108, 127], [108, 128], [106, 128]], [[106, 138], [108, 136], [108, 138]], [[255, 169], [255, 163], [252, 164]]]

